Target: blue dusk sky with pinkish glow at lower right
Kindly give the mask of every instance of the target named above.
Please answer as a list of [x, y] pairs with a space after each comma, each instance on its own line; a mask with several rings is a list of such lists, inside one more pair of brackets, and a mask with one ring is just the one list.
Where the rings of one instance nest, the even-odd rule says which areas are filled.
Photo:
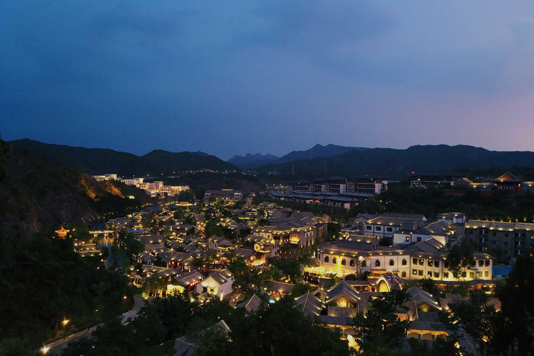
[[316, 143], [534, 150], [533, 1], [0, 9], [4, 140], [223, 159]]

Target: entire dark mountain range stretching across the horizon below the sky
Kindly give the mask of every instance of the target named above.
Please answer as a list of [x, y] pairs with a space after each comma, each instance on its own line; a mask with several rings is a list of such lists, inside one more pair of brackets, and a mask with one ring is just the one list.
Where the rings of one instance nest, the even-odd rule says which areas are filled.
[[312, 179], [316, 177], [374, 175], [403, 179], [416, 173], [469, 172], [489, 168], [534, 166], [534, 152], [499, 152], [468, 145], [415, 145], [407, 149], [315, 145], [282, 157], [270, 154], [234, 156], [229, 162], [204, 152], [154, 150], [143, 156], [112, 149], [70, 147], [35, 140], [11, 141], [15, 147], [89, 174], [117, 173], [127, 177], [172, 176], [184, 170], [238, 170], [254, 168]]

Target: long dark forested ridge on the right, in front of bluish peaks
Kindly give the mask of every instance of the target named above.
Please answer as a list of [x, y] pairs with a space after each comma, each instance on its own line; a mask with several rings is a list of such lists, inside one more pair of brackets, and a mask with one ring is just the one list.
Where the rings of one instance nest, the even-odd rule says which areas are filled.
[[531, 165], [534, 165], [534, 152], [498, 152], [467, 145], [417, 145], [407, 149], [352, 150], [328, 158], [265, 165], [258, 170], [270, 172], [276, 167], [277, 172], [290, 175], [294, 169], [295, 175], [306, 178], [375, 175], [389, 179], [403, 179], [412, 171], [468, 172], [474, 169]]

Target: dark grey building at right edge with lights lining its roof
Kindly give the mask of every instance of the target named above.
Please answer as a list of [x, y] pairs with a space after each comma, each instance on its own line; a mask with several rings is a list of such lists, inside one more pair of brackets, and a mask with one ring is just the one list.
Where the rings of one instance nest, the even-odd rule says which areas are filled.
[[478, 250], [513, 258], [520, 254], [534, 257], [534, 224], [502, 223], [487, 220], [469, 220], [465, 238], [478, 245]]

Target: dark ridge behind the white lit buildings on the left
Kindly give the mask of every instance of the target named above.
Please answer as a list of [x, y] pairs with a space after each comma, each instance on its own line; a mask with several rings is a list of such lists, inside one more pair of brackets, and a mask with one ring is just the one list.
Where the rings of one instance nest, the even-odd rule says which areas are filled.
[[117, 173], [128, 177], [160, 176], [162, 174], [166, 176], [184, 170], [200, 170], [202, 168], [234, 170], [236, 168], [231, 163], [203, 152], [168, 152], [157, 149], [143, 156], [136, 156], [113, 149], [53, 145], [29, 139], [14, 140], [10, 143], [35, 156], [82, 170], [91, 175]]

